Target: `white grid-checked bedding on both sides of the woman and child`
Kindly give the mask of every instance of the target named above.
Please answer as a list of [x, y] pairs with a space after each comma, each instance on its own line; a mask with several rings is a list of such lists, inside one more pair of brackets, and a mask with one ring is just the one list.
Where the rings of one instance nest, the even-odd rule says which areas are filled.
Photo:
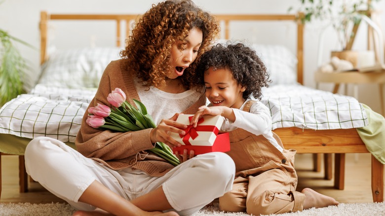
[[[0, 134], [75, 142], [95, 92], [37, 85], [29, 94], [20, 95], [0, 109]], [[264, 91], [262, 102], [270, 109], [272, 129], [346, 129], [368, 124], [356, 99], [300, 85], [272, 86]]]

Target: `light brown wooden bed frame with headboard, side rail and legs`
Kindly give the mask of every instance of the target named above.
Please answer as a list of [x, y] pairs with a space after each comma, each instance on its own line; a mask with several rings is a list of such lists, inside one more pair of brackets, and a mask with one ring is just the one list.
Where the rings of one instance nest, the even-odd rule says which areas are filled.
[[[231, 21], [292, 21], [297, 24], [297, 77], [298, 82], [303, 84], [303, 35], [304, 25], [298, 22], [299, 15], [227, 15], [218, 14], [217, 19], [224, 23], [225, 38], [230, 38]], [[48, 14], [41, 12], [40, 19], [40, 59], [41, 64], [47, 59], [47, 26], [51, 20], [115, 20], [116, 21], [116, 46], [121, 44], [121, 23], [125, 23], [126, 38], [131, 31], [131, 23], [140, 17], [137, 14]], [[356, 129], [337, 129], [337, 130], [311, 130], [296, 127], [279, 128], [274, 132], [281, 138], [284, 147], [294, 148], [297, 153], [320, 153], [325, 154], [325, 164], [331, 164], [331, 154], [335, 154], [335, 187], [344, 189], [345, 181], [345, 153], [368, 153], [365, 144], [359, 137]], [[2, 153], [1, 153], [2, 154]], [[0, 154], [0, 195], [1, 195], [1, 154]], [[19, 156], [20, 162], [20, 192], [26, 192], [27, 175], [24, 167], [24, 156]], [[319, 160], [314, 162], [315, 170], [319, 169]], [[329, 168], [327, 165], [325, 168]], [[325, 169], [327, 178], [331, 177], [331, 169]], [[372, 155], [372, 195], [374, 202], [384, 201], [384, 166]]]

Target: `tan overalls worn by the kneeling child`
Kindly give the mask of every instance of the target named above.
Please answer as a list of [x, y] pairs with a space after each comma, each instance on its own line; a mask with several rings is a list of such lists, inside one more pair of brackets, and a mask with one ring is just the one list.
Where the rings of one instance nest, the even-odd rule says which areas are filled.
[[[248, 112], [253, 103], [249, 101], [243, 110]], [[232, 190], [219, 198], [220, 210], [250, 215], [302, 211], [305, 194], [296, 191], [296, 150], [280, 152], [262, 135], [240, 128], [229, 133], [227, 153], [235, 162], [236, 174]], [[274, 133], [273, 137], [283, 147], [279, 137]]]

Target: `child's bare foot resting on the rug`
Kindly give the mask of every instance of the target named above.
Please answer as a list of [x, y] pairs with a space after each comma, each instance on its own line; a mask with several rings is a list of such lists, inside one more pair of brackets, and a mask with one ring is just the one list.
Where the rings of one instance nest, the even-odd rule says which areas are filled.
[[337, 206], [339, 204], [334, 198], [320, 194], [310, 188], [304, 188], [302, 193], [306, 196], [304, 209]]

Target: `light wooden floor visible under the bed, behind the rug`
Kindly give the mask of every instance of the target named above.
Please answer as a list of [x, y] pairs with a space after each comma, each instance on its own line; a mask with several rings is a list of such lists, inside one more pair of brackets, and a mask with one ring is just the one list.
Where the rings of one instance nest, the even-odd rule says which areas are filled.
[[[18, 158], [2, 156], [2, 192], [0, 202], [51, 203], [64, 202], [37, 182], [29, 182], [29, 192], [19, 193]], [[323, 172], [312, 172], [311, 154], [297, 154], [295, 166], [299, 176], [297, 190], [310, 187], [334, 197], [340, 203], [373, 202], [370, 178], [371, 155], [346, 154], [345, 189], [333, 188], [333, 180], [323, 180]], [[323, 170], [323, 169], [322, 169]]]

